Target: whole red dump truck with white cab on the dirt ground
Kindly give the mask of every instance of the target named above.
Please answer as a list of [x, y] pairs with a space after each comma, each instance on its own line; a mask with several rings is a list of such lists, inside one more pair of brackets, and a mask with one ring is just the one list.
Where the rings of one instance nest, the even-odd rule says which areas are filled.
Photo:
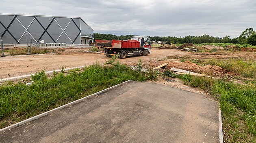
[[121, 59], [127, 56], [150, 54], [150, 38], [145, 36], [134, 36], [132, 40], [95, 40], [97, 48], [103, 48], [101, 54], [111, 57], [119, 54]]

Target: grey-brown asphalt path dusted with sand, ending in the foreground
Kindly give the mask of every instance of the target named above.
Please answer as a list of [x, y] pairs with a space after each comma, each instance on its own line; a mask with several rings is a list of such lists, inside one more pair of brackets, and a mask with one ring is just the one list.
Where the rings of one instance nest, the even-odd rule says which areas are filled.
[[0, 134], [1, 142], [219, 142], [218, 103], [152, 82], [129, 82]]

